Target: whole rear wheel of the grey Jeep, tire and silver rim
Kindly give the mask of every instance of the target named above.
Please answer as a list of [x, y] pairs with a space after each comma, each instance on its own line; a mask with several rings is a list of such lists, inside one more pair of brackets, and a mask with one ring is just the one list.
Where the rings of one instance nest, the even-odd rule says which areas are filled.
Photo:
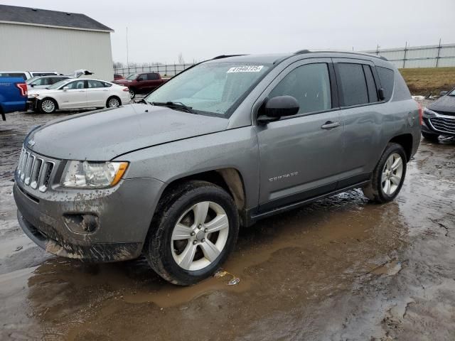
[[387, 144], [363, 194], [374, 202], [390, 202], [400, 193], [406, 175], [406, 153], [400, 144]]

